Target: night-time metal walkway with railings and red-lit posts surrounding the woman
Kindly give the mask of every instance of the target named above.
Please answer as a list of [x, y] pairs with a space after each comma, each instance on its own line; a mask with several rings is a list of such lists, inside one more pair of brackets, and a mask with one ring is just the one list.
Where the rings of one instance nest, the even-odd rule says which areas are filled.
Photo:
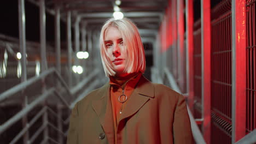
[[184, 95], [195, 143], [256, 143], [255, 8], [255, 0], [2, 2], [0, 143], [66, 143], [74, 104], [108, 82], [98, 41], [113, 15], [139, 28], [144, 76]]

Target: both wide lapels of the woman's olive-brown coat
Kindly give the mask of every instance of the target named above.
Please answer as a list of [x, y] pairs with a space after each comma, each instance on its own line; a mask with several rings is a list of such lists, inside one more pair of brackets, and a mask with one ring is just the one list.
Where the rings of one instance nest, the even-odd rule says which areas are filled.
[[[109, 89], [109, 83], [106, 83], [99, 89], [97, 95], [101, 95], [101, 97], [98, 100], [92, 101], [92, 107], [100, 119], [102, 128], [107, 135], [108, 142], [114, 143], [114, 120]], [[97, 95], [95, 96], [97, 97]], [[120, 117], [120, 121], [139, 111], [150, 98], [154, 98], [154, 86], [142, 75], [130, 99], [127, 101], [126, 108]]]

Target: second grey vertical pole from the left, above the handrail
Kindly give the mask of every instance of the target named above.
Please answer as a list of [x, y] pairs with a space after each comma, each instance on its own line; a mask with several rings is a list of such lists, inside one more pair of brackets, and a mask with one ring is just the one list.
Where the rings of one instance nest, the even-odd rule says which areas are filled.
[[44, 0], [39, 1], [40, 8], [40, 51], [41, 51], [41, 71], [47, 69], [47, 59], [46, 59], [46, 34], [45, 34], [45, 4]]

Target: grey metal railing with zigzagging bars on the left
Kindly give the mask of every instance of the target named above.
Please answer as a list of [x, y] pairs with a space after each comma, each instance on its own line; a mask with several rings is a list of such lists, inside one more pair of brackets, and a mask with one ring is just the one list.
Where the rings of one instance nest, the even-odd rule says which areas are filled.
[[[77, 84], [77, 86], [73, 87], [73, 88], [69, 88], [66, 84], [66, 82], [62, 79], [62, 77], [60, 76], [60, 74], [55, 70], [55, 68], [51, 68], [49, 70], [44, 71], [42, 74], [40, 74], [37, 77], [32, 77], [31, 79], [20, 83], [19, 85], [16, 85], [15, 87], [9, 89], [8, 91], [5, 91], [3, 93], [0, 94], [0, 101], [3, 101], [7, 98], [10, 98], [12, 95], [14, 95], [15, 93], [18, 93], [20, 91], [24, 91], [28, 86], [31, 86], [35, 83], [37, 83], [39, 80], [44, 80], [46, 77], [48, 77], [49, 75], [55, 74], [55, 77], [57, 80], [60, 81], [60, 83], [63, 85], [63, 88], [65, 89], [65, 91], [67, 91], [67, 94], [71, 97], [73, 97], [73, 95], [77, 94], [78, 92], [80, 93], [80, 91], [82, 91], [81, 89], [88, 83], [90, 82], [97, 74], [100, 73], [100, 69], [95, 69], [94, 71], [91, 72], [91, 74], [86, 77], [85, 79], [83, 79], [80, 83]], [[80, 99], [82, 99], [89, 91], [91, 91], [91, 89], [95, 88], [95, 86], [97, 86], [100, 82], [102, 82], [101, 79], [100, 80], [95, 80], [94, 82], [90, 83], [90, 86], [86, 87], [85, 91], [82, 91], [81, 94], [73, 101], [73, 103], [69, 104], [65, 98], [62, 97], [61, 93], [59, 91], [57, 91], [57, 89], [55, 87], [51, 87], [46, 89], [46, 91], [43, 91], [43, 94], [40, 94], [36, 99], [34, 99], [30, 104], [26, 105], [24, 107], [24, 109], [22, 109], [21, 111], [19, 111], [18, 113], [16, 113], [13, 117], [9, 118], [6, 122], [4, 122], [2, 125], [0, 125], [0, 134], [4, 133], [4, 131], [6, 131], [8, 128], [10, 128], [12, 125], [14, 125], [16, 122], [18, 122], [20, 119], [22, 119], [24, 116], [26, 116], [31, 110], [33, 110], [36, 106], [39, 106], [40, 104], [42, 104], [47, 98], [50, 97], [50, 95], [54, 95], [57, 98], [60, 99], [60, 101], [62, 102], [64, 108], [71, 110], [72, 107], [74, 106], [74, 104], [79, 101]], [[67, 125], [69, 123], [69, 117], [67, 117], [65, 120], [63, 120], [61, 118], [61, 114], [54, 112], [54, 110], [52, 110], [49, 106], [47, 105], [43, 105], [42, 109], [40, 109], [37, 113], [37, 115], [35, 115], [30, 122], [26, 123], [25, 127], [14, 137], [13, 140], [10, 141], [10, 143], [16, 143], [18, 142], [18, 140], [21, 139], [22, 136], [25, 135], [25, 133], [32, 127], [32, 125], [34, 123], [36, 123], [36, 121], [44, 116], [44, 115], [48, 115], [51, 114], [52, 116], [57, 117], [58, 119], [58, 126], [59, 127], [55, 127], [54, 124], [50, 123], [46, 117], [46, 119], [43, 117], [43, 124], [37, 129], [37, 131], [35, 133], [33, 133], [33, 135], [30, 137], [29, 140], [27, 140], [27, 143], [33, 143], [37, 137], [45, 130], [51, 128], [55, 131], [57, 131], [57, 133], [59, 135], [61, 135], [61, 139], [59, 139], [59, 141], [55, 141], [54, 139], [52, 139], [48, 133], [48, 135], [44, 135], [44, 139], [41, 143], [45, 143], [48, 140], [53, 142], [53, 143], [62, 143], [64, 137], [67, 136], [67, 130], [63, 132], [62, 130], [62, 126], [63, 125]], [[46, 121], [46, 122], [45, 122]], [[61, 123], [61, 124], [60, 124]], [[61, 127], [61, 128], [60, 128]]]

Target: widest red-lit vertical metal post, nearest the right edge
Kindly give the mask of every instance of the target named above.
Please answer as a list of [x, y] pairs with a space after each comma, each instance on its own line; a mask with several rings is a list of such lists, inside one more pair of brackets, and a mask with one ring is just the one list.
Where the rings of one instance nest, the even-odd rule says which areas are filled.
[[246, 135], [246, 1], [232, 0], [232, 143]]

